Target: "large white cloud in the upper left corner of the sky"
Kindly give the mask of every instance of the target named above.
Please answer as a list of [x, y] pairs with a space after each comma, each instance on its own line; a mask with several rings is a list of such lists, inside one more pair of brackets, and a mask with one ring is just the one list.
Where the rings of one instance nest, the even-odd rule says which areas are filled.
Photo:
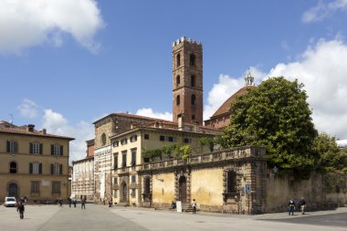
[[0, 54], [20, 53], [42, 44], [61, 46], [70, 35], [90, 52], [100, 45], [93, 39], [103, 26], [94, 0], [0, 1]]

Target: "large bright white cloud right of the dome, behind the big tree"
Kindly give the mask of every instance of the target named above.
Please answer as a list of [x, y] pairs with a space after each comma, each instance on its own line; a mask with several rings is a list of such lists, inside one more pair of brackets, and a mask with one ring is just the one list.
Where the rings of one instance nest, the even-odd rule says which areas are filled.
[[298, 79], [305, 84], [312, 118], [319, 131], [347, 138], [347, 45], [341, 40], [320, 40], [308, 47], [300, 60], [279, 63], [268, 76]]

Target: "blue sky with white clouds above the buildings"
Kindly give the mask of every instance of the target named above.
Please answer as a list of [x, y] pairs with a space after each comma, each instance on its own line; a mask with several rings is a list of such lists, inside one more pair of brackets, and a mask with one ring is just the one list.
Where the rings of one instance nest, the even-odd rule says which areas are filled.
[[320, 132], [347, 139], [347, 0], [0, 0], [0, 121], [73, 137], [129, 112], [172, 120], [172, 43], [203, 44], [204, 118], [269, 77], [305, 85]]

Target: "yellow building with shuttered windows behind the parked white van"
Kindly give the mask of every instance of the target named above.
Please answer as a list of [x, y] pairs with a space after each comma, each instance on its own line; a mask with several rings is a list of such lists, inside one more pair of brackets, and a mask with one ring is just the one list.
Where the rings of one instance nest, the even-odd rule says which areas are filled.
[[29, 203], [68, 197], [68, 152], [72, 138], [0, 126], [0, 201], [26, 197]]

